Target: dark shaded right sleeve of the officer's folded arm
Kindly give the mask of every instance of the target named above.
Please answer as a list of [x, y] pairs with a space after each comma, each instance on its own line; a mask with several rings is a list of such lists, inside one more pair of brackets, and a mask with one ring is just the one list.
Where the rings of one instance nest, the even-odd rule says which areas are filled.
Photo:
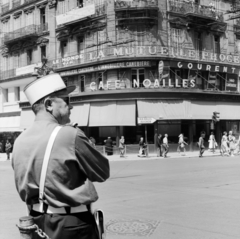
[[109, 178], [109, 162], [99, 151], [94, 149], [88, 138], [78, 130], [75, 140], [75, 154], [81, 170], [92, 182], [104, 182]]

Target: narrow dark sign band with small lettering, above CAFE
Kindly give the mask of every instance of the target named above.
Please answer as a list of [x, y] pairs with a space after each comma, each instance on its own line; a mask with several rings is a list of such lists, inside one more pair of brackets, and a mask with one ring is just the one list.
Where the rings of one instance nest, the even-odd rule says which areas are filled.
[[69, 75], [78, 75], [84, 74], [88, 72], [94, 71], [102, 71], [102, 70], [110, 70], [110, 69], [118, 69], [118, 68], [131, 68], [131, 67], [151, 67], [154, 62], [150, 61], [127, 61], [127, 62], [117, 62], [117, 63], [110, 63], [105, 65], [97, 65], [85, 68], [74, 69], [70, 71], [61, 72], [61, 76], [69, 76]]

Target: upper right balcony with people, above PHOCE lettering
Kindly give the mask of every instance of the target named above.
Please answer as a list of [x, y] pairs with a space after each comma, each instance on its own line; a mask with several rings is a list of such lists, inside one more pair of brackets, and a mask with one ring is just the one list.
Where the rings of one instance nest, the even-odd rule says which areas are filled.
[[223, 13], [213, 6], [199, 5], [192, 2], [169, 0], [169, 13], [184, 15], [191, 19], [205, 20], [205, 22], [223, 22]]

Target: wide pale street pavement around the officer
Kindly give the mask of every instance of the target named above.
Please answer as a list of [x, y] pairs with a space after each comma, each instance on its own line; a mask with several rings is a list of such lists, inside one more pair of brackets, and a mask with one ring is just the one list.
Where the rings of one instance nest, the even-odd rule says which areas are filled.
[[[240, 157], [197, 152], [168, 158], [109, 156], [111, 177], [95, 183], [107, 239], [229, 239], [240, 237]], [[212, 157], [214, 156], [214, 157]], [[19, 238], [26, 214], [10, 161], [0, 155], [0, 238]]]

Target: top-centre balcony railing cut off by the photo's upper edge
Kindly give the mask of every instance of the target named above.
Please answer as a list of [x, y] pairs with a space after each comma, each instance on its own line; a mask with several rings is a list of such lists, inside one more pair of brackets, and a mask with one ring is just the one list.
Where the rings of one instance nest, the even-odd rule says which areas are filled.
[[133, 0], [133, 1], [115, 1], [115, 11], [136, 10], [143, 8], [158, 8], [157, 0]]

